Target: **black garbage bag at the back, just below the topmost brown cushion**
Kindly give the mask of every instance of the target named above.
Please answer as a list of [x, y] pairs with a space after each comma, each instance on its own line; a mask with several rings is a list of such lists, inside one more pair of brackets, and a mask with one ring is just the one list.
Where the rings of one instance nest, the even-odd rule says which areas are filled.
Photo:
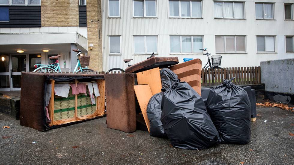
[[167, 89], [170, 85], [173, 85], [175, 82], [179, 82], [178, 76], [169, 68], [163, 68], [160, 70], [161, 85], [163, 89]]

